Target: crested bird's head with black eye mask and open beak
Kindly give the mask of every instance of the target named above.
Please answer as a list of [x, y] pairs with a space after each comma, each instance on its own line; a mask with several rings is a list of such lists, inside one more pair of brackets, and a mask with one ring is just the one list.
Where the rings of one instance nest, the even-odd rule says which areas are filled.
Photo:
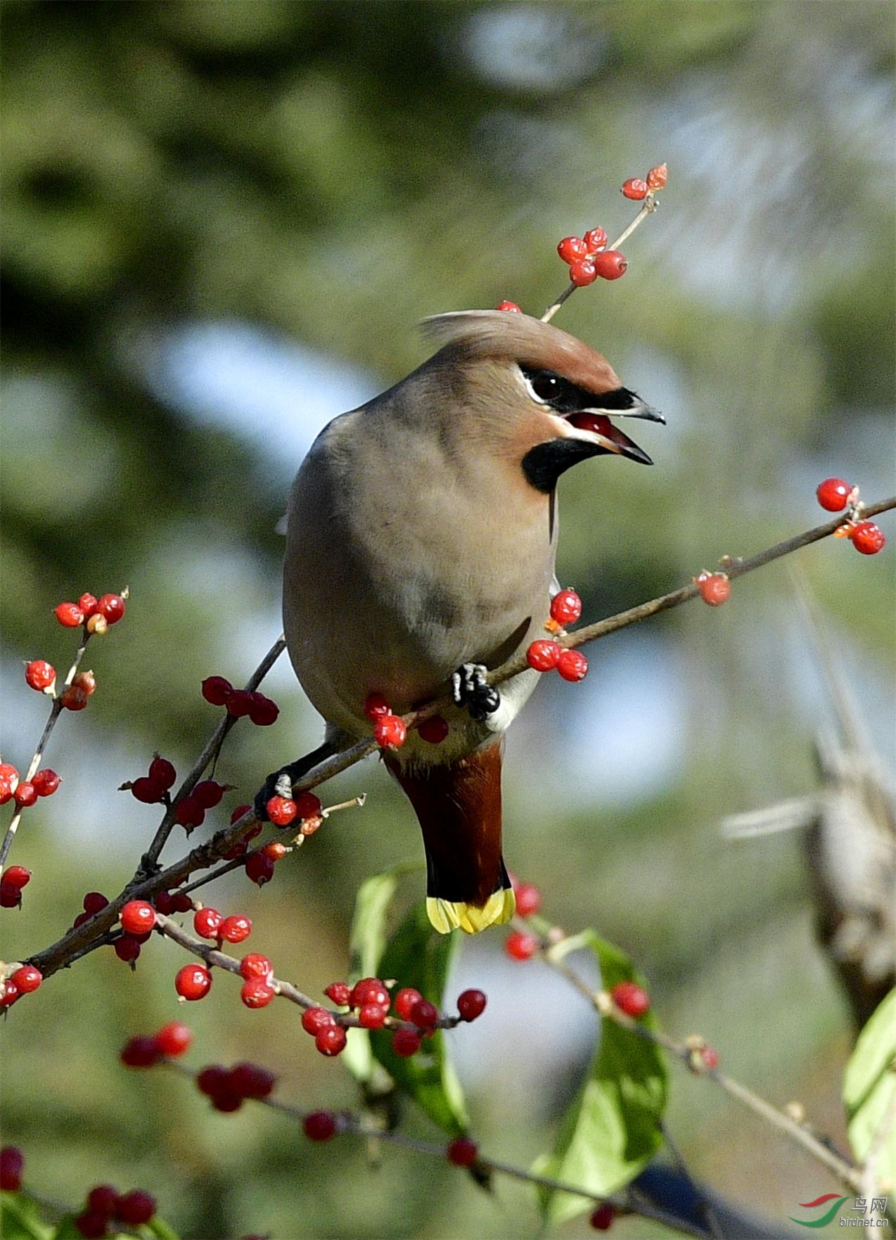
[[442, 346], [428, 365], [455, 388], [480, 436], [518, 461], [538, 491], [604, 453], [653, 464], [611, 419], [665, 419], [575, 336], [506, 310], [442, 314], [424, 326]]

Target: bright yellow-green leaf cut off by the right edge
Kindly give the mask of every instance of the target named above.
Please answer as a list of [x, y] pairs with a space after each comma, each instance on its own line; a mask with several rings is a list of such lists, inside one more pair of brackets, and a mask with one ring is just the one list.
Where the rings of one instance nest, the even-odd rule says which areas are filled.
[[[890, 991], [859, 1034], [843, 1079], [849, 1143], [863, 1163], [882, 1140], [877, 1167], [896, 1167], [896, 990]], [[881, 1130], [890, 1118], [890, 1131]]]

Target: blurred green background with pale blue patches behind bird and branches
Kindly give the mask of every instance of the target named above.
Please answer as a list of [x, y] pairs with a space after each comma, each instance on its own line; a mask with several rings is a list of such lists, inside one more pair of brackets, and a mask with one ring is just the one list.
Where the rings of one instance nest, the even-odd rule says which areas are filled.
[[[73, 647], [51, 608], [131, 591], [90, 650], [89, 709], [52, 738], [64, 784], [20, 832], [12, 859], [35, 877], [2, 913], [4, 959], [57, 939], [84, 892], [120, 890], [156, 820], [118, 785], [154, 750], [186, 770], [217, 720], [200, 681], [242, 682], [279, 634], [274, 526], [316, 433], [425, 357], [423, 316], [503, 298], [540, 314], [565, 283], [556, 241], [632, 217], [623, 179], [668, 161], [626, 278], [556, 321], [668, 427], [637, 436], [654, 469], [604, 458], [563, 480], [559, 577], [585, 615], [818, 523], [832, 474], [869, 500], [892, 491], [890, 4], [6, 0], [2, 35], [6, 760], [27, 764], [46, 713], [21, 660], [67, 666]], [[892, 764], [892, 549], [796, 558]], [[670, 1032], [699, 1029], [734, 1076], [801, 1099], [843, 1145], [854, 1029], [814, 940], [804, 832], [720, 830], [813, 794], [815, 728], [835, 722], [788, 563], [718, 611], [692, 604], [590, 649], [581, 686], [545, 678], [509, 735], [506, 856], [548, 915], [637, 960]], [[320, 737], [285, 660], [264, 688], [280, 719], [235, 729], [219, 768], [235, 791], [203, 831]], [[346, 973], [358, 884], [421, 861], [374, 763], [326, 799], [361, 791], [366, 807], [269, 887], [237, 872], [212, 889], [311, 993]], [[482, 986], [490, 1007], [452, 1045], [482, 1147], [528, 1164], [596, 1030], [501, 945], [463, 944], [450, 993]], [[4, 1137], [32, 1187], [74, 1204], [100, 1180], [140, 1184], [197, 1238], [535, 1233], [523, 1185], [488, 1197], [392, 1148], [368, 1169], [357, 1143], [310, 1147], [273, 1112], [222, 1116], [178, 1079], [121, 1069], [126, 1037], [181, 1014], [182, 962], [152, 942], [131, 975], [104, 949], [10, 1014]], [[193, 1064], [254, 1058], [297, 1105], [353, 1105], [290, 1006], [252, 1013], [222, 981], [187, 1016]], [[782, 1226], [832, 1188], [675, 1069], [669, 1127], [695, 1176]]]

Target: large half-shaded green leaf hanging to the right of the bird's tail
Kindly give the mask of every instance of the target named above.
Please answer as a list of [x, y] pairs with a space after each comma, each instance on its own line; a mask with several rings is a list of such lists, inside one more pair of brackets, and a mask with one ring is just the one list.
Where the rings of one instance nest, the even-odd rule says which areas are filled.
[[[554, 954], [565, 956], [581, 947], [596, 956], [605, 990], [622, 981], [644, 985], [628, 957], [592, 930], [565, 940]], [[656, 1028], [652, 1013], [641, 1023]], [[617, 1192], [663, 1145], [665, 1095], [667, 1071], [659, 1048], [612, 1021], [601, 1021], [600, 1043], [585, 1084], [560, 1123], [554, 1152], [538, 1158], [533, 1171], [601, 1197]], [[565, 1223], [591, 1205], [587, 1198], [556, 1189], [542, 1188], [538, 1195], [548, 1224]]]

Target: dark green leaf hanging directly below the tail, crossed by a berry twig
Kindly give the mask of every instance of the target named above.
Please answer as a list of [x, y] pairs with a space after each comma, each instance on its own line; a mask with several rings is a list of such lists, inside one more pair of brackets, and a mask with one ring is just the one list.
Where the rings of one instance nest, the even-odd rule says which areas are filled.
[[[441, 1007], [457, 937], [456, 934], [436, 934], [425, 906], [416, 905], [389, 941], [379, 962], [379, 976], [384, 980], [394, 977], [399, 987], [414, 986]], [[463, 1091], [441, 1029], [426, 1038], [423, 1048], [410, 1059], [393, 1052], [388, 1030], [372, 1033], [371, 1047], [374, 1058], [434, 1123], [452, 1137], [466, 1131], [470, 1121]]]

